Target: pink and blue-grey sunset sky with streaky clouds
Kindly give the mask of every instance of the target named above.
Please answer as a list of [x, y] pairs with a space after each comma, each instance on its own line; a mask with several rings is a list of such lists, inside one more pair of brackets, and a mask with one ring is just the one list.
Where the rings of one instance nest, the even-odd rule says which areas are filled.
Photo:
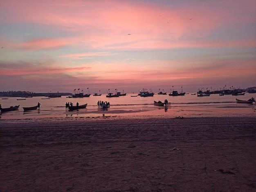
[[255, 0], [0, 0], [0, 92], [256, 86]]

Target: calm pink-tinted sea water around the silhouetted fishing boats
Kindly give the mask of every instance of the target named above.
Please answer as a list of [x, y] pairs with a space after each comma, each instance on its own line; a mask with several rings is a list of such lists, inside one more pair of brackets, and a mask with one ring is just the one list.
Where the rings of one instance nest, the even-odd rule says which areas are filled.
[[[107, 94], [85, 98], [58, 98], [47, 97], [2, 97], [0, 104], [2, 108], [20, 105], [17, 111], [1, 112], [1, 120], [24, 120], [40, 118], [189, 118], [189, 117], [225, 117], [225, 116], [256, 116], [255, 104], [239, 104], [236, 98], [248, 100], [256, 97], [256, 94], [245, 93], [243, 96], [211, 94], [210, 96], [198, 97], [195, 93], [184, 96], [169, 96], [154, 94], [150, 97], [141, 97], [134, 93], [127, 93], [126, 96], [107, 98]], [[137, 96], [136, 96], [137, 95]], [[25, 99], [25, 100], [20, 100]], [[154, 101], [168, 100], [169, 105], [159, 107]], [[108, 109], [98, 107], [98, 101], [110, 103]], [[32, 107], [40, 103], [40, 109], [23, 111], [22, 107]], [[85, 109], [69, 112], [65, 109], [66, 102], [76, 105], [88, 104]]]

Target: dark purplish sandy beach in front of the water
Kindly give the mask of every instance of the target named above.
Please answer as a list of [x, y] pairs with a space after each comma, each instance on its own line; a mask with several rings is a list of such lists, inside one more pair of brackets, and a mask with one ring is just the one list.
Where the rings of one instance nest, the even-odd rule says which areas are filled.
[[256, 191], [256, 117], [1, 121], [0, 191]]

